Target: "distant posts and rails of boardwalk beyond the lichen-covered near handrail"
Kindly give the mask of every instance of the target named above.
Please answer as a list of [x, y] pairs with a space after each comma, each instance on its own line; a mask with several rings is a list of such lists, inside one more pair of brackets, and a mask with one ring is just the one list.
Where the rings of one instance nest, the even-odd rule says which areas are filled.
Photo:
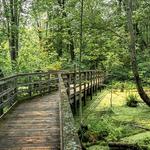
[[104, 82], [104, 73], [99, 70], [87, 70], [81, 72], [81, 88], [80, 88], [80, 75], [79, 72], [64, 72], [62, 73], [64, 84], [67, 88], [69, 102], [74, 113], [77, 112], [77, 105], [80, 95], [83, 104], [86, 104], [87, 96], [92, 98], [93, 93], [102, 87]]

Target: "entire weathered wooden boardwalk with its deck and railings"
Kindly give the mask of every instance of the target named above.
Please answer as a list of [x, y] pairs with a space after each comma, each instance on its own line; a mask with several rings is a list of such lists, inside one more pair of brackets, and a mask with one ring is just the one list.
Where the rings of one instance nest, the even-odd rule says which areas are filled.
[[103, 74], [93, 70], [1, 79], [0, 150], [80, 150], [73, 114], [79, 99], [85, 105], [103, 81]]

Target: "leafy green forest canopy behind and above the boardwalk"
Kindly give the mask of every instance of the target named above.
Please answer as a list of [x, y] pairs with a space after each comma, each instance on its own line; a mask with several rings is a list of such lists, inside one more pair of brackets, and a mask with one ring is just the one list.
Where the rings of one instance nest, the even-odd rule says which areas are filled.
[[[137, 61], [144, 81], [150, 76], [149, 46], [141, 50], [141, 43], [149, 43], [149, 5], [139, 1], [134, 12], [138, 22]], [[121, 7], [121, 10], [120, 10]], [[9, 8], [9, 7], [8, 7]], [[9, 13], [8, 10], [7, 13]], [[19, 18], [19, 56], [12, 70], [6, 16], [0, 2], [0, 64], [8, 75], [14, 72], [33, 72], [38, 69], [79, 68], [80, 2], [65, 1], [62, 8], [58, 1], [35, 0], [22, 3]], [[146, 25], [146, 26], [145, 26]], [[84, 2], [82, 69], [104, 70], [111, 79], [132, 79], [128, 33], [124, 5], [116, 1], [87, 0]], [[71, 45], [72, 44], [72, 45]], [[72, 53], [74, 59], [72, 58]]]

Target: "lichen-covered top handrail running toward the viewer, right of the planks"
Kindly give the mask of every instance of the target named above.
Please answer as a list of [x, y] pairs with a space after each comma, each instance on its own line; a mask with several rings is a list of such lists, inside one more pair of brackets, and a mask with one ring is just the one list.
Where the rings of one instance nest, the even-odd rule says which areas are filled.
[[59, 75], [59, 114], [60, 114], [60, 149], [61, 150], [81, 150], [77, 129], [74, 125], [74, 118], [68, 103], [68, 95], [62, 76]]

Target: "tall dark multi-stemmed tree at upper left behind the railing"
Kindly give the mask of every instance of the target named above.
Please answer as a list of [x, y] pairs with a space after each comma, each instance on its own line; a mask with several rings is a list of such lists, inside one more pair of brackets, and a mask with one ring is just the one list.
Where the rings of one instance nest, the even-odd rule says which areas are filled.
[[9, 49], [12, 63], [16, 62], [19, 50], [19, 22], [22, 0], [2, 0], [5, 27], [9, 40]]

